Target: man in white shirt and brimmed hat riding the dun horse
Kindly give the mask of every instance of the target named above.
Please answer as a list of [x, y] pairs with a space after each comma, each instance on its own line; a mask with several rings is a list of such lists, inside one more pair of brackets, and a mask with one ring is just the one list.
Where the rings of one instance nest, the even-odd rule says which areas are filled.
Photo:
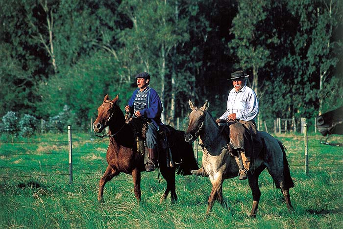
[[[216, 120], [217, 124], [225, 123], [229, 126], [229, 140], [237, 152], [234, 156], [240, 168], [239, 180], [246, 180], [250, 169], [250, 157], [253, 156], [253, 152], [249, 149], [252, 149], [252, 139], [257, 134], [254, 120], [259, 113], [258, 98], [255, 92], [246, 86], [248, 76], [242, 70], [231, 74], [229, 80], [232, 80], [234, 88], [228, 95], [226, 111]], [[197, 176], [208, 176], [202, 166], [191, 172]]]

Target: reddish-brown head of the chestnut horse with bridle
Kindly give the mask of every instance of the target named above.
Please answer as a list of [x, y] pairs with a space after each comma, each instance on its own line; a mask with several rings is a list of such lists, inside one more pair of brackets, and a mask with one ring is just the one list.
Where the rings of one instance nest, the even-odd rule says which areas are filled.
[[108, 94], [103, 99], [102, 104], [98, 107], [98, 117], [93, 123], [93, 130], [97, 133], [103, 131], [108, 126], [108, 123], [116, 117], [116, 110], [120, 110], [116, 102], [119, 96], [110, 100]]

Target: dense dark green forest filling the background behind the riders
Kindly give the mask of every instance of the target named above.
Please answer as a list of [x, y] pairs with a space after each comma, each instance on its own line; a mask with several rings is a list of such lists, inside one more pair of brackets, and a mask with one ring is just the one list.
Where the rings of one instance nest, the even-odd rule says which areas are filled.
[[231, 72], [244, 69], [261, 120], [343, 106], [341, 0], [1, 0], [0, 117], [85, 127], [103, 97], [123, 109], [134, 76], [151, 75], [163, 120], [188, 100], [219, 117]]

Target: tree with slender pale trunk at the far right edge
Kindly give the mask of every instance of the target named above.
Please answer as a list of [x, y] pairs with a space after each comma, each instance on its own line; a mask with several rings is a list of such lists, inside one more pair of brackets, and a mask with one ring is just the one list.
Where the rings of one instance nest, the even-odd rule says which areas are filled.
[[[339, 30], [343, 26], [342, 1], [318, 1], [313, 6], [313, 11], [311, 21], [315, 23], [312, 23], [312, 42], [308, 49], [307, 58], [309, 62], [309, 73], [314, 74], [316, 76], [315, 78], [319, 81], [317, 99], [319, 102], [318, 114], [321, 115], [323, 101], [326, 97], [332, 95], [332, 92], [338, 92], [337, 95], [341, 95], [342, 98], [342, 81], [341, 85], [330, 82], [335, 80], [334, 78], [336, 77], [343, 76], [342, 72], [340, 73], [335, 70], [339, 58], [343, 54], [342, 31]], [[335, 37], [336, 34], [340, 35]], [[340, 38], [337, 39], [338, 37]], [[324, 87], [326, 85], [330, 85], [330, 87]]]

